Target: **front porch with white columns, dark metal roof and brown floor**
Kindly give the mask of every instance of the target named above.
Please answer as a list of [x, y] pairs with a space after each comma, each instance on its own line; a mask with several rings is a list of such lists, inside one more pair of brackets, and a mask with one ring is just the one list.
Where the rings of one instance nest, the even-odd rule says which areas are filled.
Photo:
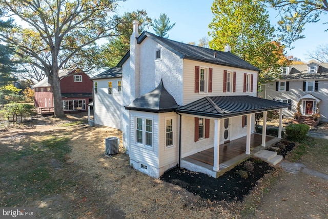
[[[182, 154], [185, 152], [187, 156], [181, 157], [180, 166], [191, 171], [218, 177], [220, 174], [224, 173], [224, 171], [227, 171], [241, 161], [246, 160], [254, 153], [264, 149], [266, 146], [270, 146], [280, 141], [282, 109], [289, 106], [290, 104], [253, 96], [208, 96], [180, 107], [176, 111], [182, 115], [214, 120], [213, 147], [207, 147], [206, 144], [197, 143], [203, 144], [204, 150], [198, 150], [193, 154], [186, 154], [185, 151], [182, 151]], [[271, 110], [279, 110], [278, 137], [267, 136], [265, 134], [267, 128], [265, 121], [267, 121], [268, 111]], [[254, 116], [255, 113], [260, 112], [263, 113], [264, 121], [262, 134], [255, 134]], [[224, 140], [226, 140], [227, 132], [224, 121], [227, 118], [241, 118], [241, 116], [243, 124], [247, 124], [247, 126], [242, 126], [245, 128], [242, 130], [239, 129], [238, 132], [238, 124], [233, 124], [235, 131], [241, 136], [232, 141], [224, 141], [223, 143], [222, 136], [224, 136]], [[247, 121], [244, 121], [244, 118]], [[224, 124], [223, 128], [220, 125], [222, 123]], [[231, 124], [228, 124], [227, 127], [230, 125]], [[197, 134], [197, 127], [198, 126], [195, 125], [195, 135]]]

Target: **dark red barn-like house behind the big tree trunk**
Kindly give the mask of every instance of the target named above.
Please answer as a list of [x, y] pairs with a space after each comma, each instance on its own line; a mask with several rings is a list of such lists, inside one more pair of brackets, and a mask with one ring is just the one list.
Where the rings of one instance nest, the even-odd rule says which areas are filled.
[[[65, 113], [87, 111], [92, 101], [93, 83], [90, 77], [78, 68], [59, 71], [61, 99]], [[52, 87], [48, 77], [34, 86], [34, 105], [39, 114], [53, 113]]]

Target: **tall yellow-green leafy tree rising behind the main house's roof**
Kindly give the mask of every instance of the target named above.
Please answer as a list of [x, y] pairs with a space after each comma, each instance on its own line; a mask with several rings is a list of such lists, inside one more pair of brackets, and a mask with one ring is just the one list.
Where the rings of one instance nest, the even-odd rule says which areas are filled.
[[284, 46], [274, 38], [275, 29], [263, 4], [253, 0], [215, 0], [212, 12], [210, 48], [223, 51], [229, 44], [232, 53], [261, 70], [259, 83], [277, 78], [280, 67], [289, 64]]

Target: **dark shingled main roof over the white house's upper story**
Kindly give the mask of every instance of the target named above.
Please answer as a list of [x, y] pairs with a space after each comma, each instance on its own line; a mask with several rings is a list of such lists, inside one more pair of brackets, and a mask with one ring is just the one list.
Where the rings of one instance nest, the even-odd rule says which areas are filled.
[[[144, 31], [137, 38], [137, 43], [140, 44], [146, 37], [152, 38], [154, 41], [167, 48], [171, 52], [178, 55], [180, 58], [191, 59], [194, 61], [212, 63], [216, 65], [230, 66], [254, 71], [260, 71], [257, 67], [251, 65], [250, 63], [244, 61], [237, 55], [234, 55], [231, 52], [222, 52], [209, 48], [184, 44], [176, 41], [172, 41], [171, 39], [163, 38], [157, 36], [153, 33]], [[215, 57], [214, 57], [215, 55]], [[118, 63], [117, 66], [121, 66], [127, 58], [130, 56], [128, 52], [124, 58]]]

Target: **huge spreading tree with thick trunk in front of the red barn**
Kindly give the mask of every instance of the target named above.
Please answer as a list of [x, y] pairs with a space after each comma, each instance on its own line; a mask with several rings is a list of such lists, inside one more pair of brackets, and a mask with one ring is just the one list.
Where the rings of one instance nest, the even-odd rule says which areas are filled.
[[0, 40], [48, 77], [53, 89], [54, 115], [65, 117], [58, 71], [74, 59], [81, 67], [98, 50], [96, 41], [113, 35], [117, 21], [109, 17], [118, 0], [3, 0], [0, 9], [22, 21], [0, 33]]

